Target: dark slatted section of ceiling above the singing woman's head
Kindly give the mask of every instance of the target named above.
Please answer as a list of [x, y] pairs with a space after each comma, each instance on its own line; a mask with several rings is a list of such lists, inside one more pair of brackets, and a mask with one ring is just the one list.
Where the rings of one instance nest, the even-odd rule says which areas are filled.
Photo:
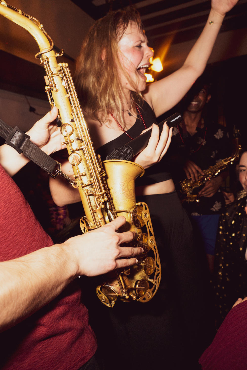
[[[72, 0], [94, 20], [109, 10], [135, 7], [141, 16], [150, 46], [156, 50], [164, 40], [172, 44], [196, 39], [210, 10], [208, 0]], [[247, 0], [240, 0], [227, 13], [220, 32], [238, 30], [247, 26]]]

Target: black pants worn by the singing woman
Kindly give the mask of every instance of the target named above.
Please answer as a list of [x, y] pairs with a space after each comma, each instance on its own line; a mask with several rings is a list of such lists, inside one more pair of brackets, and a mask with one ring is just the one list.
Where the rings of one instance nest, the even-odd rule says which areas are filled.
[[[138, 197], [148, 204], [162, 272], [147, 303], [104, 306], [91, 295], [89, 317], [107, 369], [197, 369], [209, 344], [205, 290], [191, 223], [176, 192]], [[207, 325], [207, 324], [206, 324]], [[210, 338], [211, 339], [211, 338]], [[198, 367], [200, 369], [200, 367]]]

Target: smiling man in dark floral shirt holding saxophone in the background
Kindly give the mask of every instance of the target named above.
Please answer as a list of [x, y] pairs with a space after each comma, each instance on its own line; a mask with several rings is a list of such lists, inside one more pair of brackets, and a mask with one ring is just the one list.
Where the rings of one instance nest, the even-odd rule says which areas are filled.
[[[230, 155], [226, 128], [206, 117], [210, 98], [210, 84], [201, 77], [183, 100], [184, 120], [174, 128], [171, 144], [176, 162], [172, 171], [177, 181], [191, 178], [193, 182], [197, 182], [198, 176], [204, 174], [203, 170]], [[183, 202], [195, 231], [198, 232], [198, 243], [204, 246], [211, 272], [218, 218], [225, 204], [219, 189], [226, 176], [227, 171], [198, 188], [196, 192], [199, 201]]]

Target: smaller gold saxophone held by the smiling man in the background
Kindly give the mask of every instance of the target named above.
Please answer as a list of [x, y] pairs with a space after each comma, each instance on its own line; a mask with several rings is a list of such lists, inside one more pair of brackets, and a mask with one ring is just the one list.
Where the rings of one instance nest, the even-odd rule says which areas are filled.
[[219, 161], [216, 165], [209, 167], [204, 172], [204, 175], [198, 173], [198, 181], [193, 182], [192, 179], [185, 179], [179, 182], [181, 202], [199, 202], [197, 194], [193, 194], [194, 189], [205, 184], [206, 181], [217, 176], [221, 171], [227, 168], [229, 164], [233, 164], [239, 158], [241, 145], [239, 143], [239, 130], [234, 129], [235, 152], [231, 157], [227, 157]]

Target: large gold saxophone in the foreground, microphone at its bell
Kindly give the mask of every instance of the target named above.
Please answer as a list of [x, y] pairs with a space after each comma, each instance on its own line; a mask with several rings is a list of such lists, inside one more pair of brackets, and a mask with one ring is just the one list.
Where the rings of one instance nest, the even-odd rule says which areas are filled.
[[107, 275], [107, 281], [96, 289], [97, 296], [108, 307], [113, 307], [117, 298], [148, 302], [160, 284], [161, 267], [148, 206], [136, 202], [135, 180], [144, 169], [133, 162], [115, 160], [105, 161], [103, 167], [94, 151], [69, 67], [67, 63], [57, 63], [56, 57], [63, 55], [63, 50], [55, 53], [43, 25], [3, 0], [0, 14], [25, 28], [39, 46], [35, 57], [46, 71], [45, 90], [50, 106], [59, 109], [61, 133], [74, 171], [71, 183], [79, 190], [86, 215], [80, 220], [82, 231], [94, 230], [123, 215], [127, 223], [121, 231], [137, 232], [138, 238], [131, 245], [144, 249], [134, 266]]

